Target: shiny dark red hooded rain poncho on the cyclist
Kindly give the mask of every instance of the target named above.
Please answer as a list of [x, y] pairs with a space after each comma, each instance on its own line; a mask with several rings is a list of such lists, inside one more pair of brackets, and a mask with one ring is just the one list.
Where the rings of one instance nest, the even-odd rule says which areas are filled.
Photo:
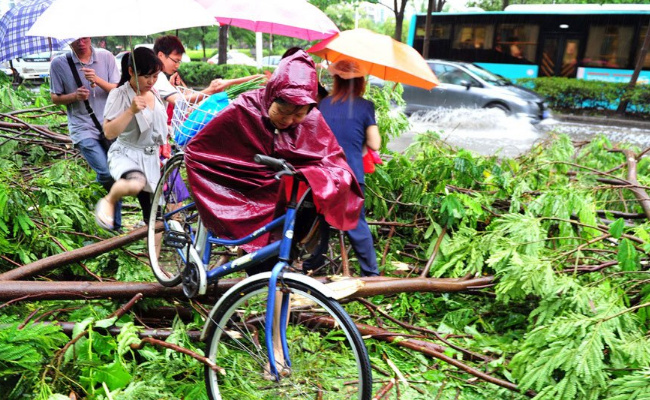
[[[274, 99], [315, 104], [316, 93], [314, 62], [298, 52], [280, 62], [265, 88], [240, 95], [190, 141], [185, 152], [188, 180], [212, 233], [239, 238], [273, 219], [280, 182], [275, 171], [253, 161], [255, 154], [290, 162], [309, 182], [319, 212], [331, 226], [356, 227], [363, 195], [318, 109], [281, 131], [269, 119]], [[267, 243], [265, 235], [242, 247], [252, 251]]]

